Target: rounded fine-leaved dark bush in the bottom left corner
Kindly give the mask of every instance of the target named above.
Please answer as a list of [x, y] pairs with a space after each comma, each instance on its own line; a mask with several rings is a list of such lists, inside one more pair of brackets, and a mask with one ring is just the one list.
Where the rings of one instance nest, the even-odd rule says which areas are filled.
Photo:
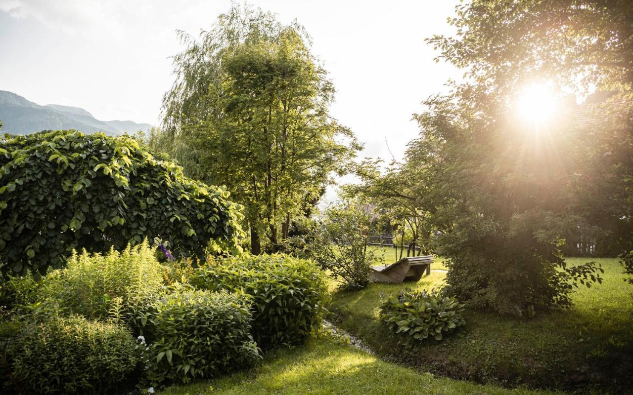
[[28, 324], [6, 356], [25, 393], [105, 394], [134, 372], [141, 350], [122, 327], [75, 315]]

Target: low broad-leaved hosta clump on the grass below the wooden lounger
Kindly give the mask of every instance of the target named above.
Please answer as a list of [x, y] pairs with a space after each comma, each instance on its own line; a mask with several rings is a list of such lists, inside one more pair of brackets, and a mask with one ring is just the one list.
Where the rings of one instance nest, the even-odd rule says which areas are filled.
[[429, 337], [442, 340], [446, 334], [466, 324], [464, 305], [455, 298], [427, 291], [400, 291], [380, 305], [380, 320], [406, 347]]

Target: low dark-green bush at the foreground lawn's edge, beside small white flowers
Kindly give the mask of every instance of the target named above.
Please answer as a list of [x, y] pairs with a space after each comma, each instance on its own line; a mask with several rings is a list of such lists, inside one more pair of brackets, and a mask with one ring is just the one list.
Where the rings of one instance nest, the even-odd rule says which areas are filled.
[[246, 367], [260, 357], [251, 336], [251, 299], [177, 284], [139, 300], [134, 322], [154, 356], [149, 379], [188, 382]]

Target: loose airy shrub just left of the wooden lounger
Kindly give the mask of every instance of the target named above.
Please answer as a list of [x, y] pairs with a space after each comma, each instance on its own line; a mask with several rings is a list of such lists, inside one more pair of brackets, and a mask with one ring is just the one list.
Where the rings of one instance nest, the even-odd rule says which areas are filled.
[[363, 287], [370, 280], [376, 260], [376, 250], [368, 248], [375, 231], [373, 219], [370, 205], [346, 200], [328, 207], [316, 229], [313, 258], [345, 286]]

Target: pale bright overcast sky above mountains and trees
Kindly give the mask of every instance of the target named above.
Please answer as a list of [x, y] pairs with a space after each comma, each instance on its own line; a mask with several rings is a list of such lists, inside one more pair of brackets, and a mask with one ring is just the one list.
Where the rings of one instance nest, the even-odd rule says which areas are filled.
[[[411, 114], [461, 72], [424, 39], [451, 33], [458, 0], [259, 0], [296, 18], [337, 88], [332, 115], [365, 143], [362, 156], [396, 157], [418, 134]], [[77, 106], [97, 119], [158, 125], [173, 82], [175, 30], [198, 35], [230, 0], [0, 0], [0, 90], [37, 104]]]

